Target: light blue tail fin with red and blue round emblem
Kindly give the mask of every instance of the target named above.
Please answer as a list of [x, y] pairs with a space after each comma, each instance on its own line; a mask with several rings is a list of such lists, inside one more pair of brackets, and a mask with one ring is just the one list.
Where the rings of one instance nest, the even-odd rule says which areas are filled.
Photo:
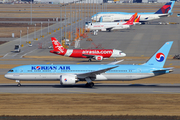
[[173, 41], [166, 42], [146, 63], [143, 65], [163, 67]]

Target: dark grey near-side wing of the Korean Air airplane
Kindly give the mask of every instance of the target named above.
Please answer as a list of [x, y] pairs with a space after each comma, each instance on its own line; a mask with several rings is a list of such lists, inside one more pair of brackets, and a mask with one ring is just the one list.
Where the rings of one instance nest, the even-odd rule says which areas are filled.
[[92, 72], [87, 72], [87, 73], [77, 74], [77, 77], [78, 78], [95, 77], [98, 74], [105, 73], [106, 71], [114, 69], [116, 67], [118, 67], [118, 66], [109, 67], [109, 68], [105, 68], [105, 69], [101, 69], [101, 70], [96, 70], [96, 71], [92, 71]]

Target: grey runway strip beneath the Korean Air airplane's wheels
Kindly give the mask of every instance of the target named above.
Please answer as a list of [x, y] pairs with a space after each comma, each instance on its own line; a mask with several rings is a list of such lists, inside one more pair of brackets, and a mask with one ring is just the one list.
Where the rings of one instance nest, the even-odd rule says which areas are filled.
[[102, 84], [93, 88], [85, 84], [61, 86], [59, 84], [0, 84], [0, 94], [180, 94], [180, 84]]

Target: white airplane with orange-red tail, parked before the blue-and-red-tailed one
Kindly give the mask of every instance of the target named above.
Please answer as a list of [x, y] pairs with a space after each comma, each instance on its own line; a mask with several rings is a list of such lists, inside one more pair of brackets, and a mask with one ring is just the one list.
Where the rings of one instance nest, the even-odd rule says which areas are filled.
[[95, 31], [94, 35], [98, 32], [98, 30], [101, 31], [111, 31], [111, 30], [119, 30], [119, 29], [127, 29], [130, 28], [131, 25], [134, 25], [134, 20], [137, 17], [137, 13], [131, 16], [131, 18], [127, 22], [95, 22], [95, 23], [89, 23], [86, 26], [86, 30], [89, 31]]

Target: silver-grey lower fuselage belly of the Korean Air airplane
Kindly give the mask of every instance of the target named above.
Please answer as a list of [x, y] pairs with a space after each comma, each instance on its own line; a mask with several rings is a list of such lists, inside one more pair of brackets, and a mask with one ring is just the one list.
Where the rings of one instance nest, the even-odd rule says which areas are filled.
[[[65, 73], [23, 73], [23, 74], [8, 74], [9, 79], [20, 81], [59, 81], [60, 75]], [[142, 79], [155, 76], [153, 73], [104, 73], [96, 75], [94, 80], [119, 80], [128, 81], [135, 79]]]

